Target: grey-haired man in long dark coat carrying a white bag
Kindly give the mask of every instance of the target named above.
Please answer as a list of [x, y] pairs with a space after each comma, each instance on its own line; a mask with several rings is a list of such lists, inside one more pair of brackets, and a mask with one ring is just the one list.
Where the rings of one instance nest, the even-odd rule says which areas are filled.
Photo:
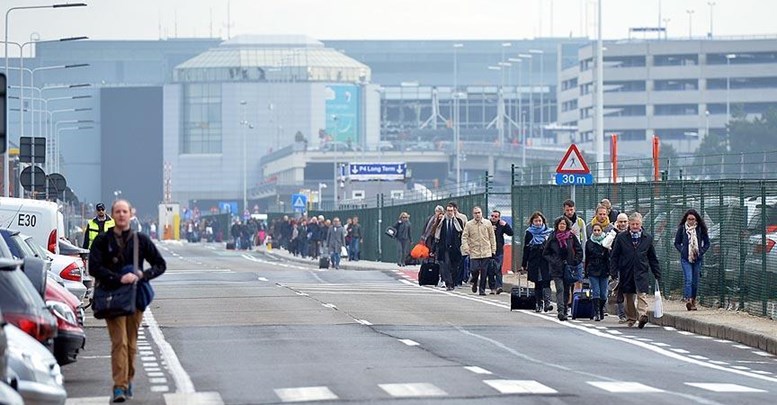
[[625, 298], [628, 325], [634, 326], [639, 319], [639, 328], [642, 329], [648, 321], [647, 294], [650, 290], [648, 272], [653, 273], [656, 281], [661, 281], [661, 268], [653, 246], [653, 237], [642, 229], [640, 213], [629, 215], [629, 230], [615, 237], [610, 261], [612, 265], [610, 275], [619, 279], [618, 286]]

